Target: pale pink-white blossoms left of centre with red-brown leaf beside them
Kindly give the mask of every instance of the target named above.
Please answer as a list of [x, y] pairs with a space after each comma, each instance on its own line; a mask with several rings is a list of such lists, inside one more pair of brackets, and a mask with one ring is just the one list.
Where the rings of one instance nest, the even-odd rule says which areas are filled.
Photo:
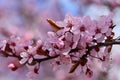
[[36, 42], [36, 46], [29, 45], [26, 47], [26, 50], [20, 53], [20, 57], [22, 58], [19, 62], [20, 64], [31, 64], [33, 59], [44, 58], [45, 54], [42, 49], [42, 41], [38, 40]]

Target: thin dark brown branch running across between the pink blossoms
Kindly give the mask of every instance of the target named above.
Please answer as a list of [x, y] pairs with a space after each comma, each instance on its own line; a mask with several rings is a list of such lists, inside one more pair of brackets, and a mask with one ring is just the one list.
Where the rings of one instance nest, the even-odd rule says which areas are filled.
[[[71, 70], [70, 70], [70, 73], [74, 72], [76, 70], [76, 68], [79, 66], [79, 64], [81, 64], [82, 66], [84, 66], [86, 63], [87, 63], [87, 56], [90, 55], [90, 51], [96, 47], [103, 47], [103, 46], [112, 46], [112, 45], [118, 45], [120, 44], [120, 42], [118, 41], [111, 41], [111, 42], [105, 42], [105, 43], [98, 43], [97, 45], [94, 45], [94, 46], [90, 46], [88, 48], [88, 50], [86, 51], [86, 54], [84, 54], [79, 60], [78, 62], [76, 62], [72, 67], [71, 67]], [[78, 50], [78, 49], [76, 49]], [[72, 50], [71, 52], [74, 52], [76, 50]], [[4, 56], [6, 57], [16, 57], [18, 58], [19, 60], [21, 60], [22, 58], [18, 55], [9, 55], [7, 54], [6, 52], [4, 51], [0, 51], [0, 53], [2, 53]], [[43, 62], [43, 61], [47, 61], [47, 60], [51, 60], [51, 59], [54, 59], [54, 58], [57, 58], [59, 57], [60, 55], [56, 55], [56, 56], [53, 56], [53, 57], [50, 57], [50, 56], [47, 56], [46, 58], [42, 58], [42, 59], [34, 59], [34, 61], [40, 63], [40, 62]]]

